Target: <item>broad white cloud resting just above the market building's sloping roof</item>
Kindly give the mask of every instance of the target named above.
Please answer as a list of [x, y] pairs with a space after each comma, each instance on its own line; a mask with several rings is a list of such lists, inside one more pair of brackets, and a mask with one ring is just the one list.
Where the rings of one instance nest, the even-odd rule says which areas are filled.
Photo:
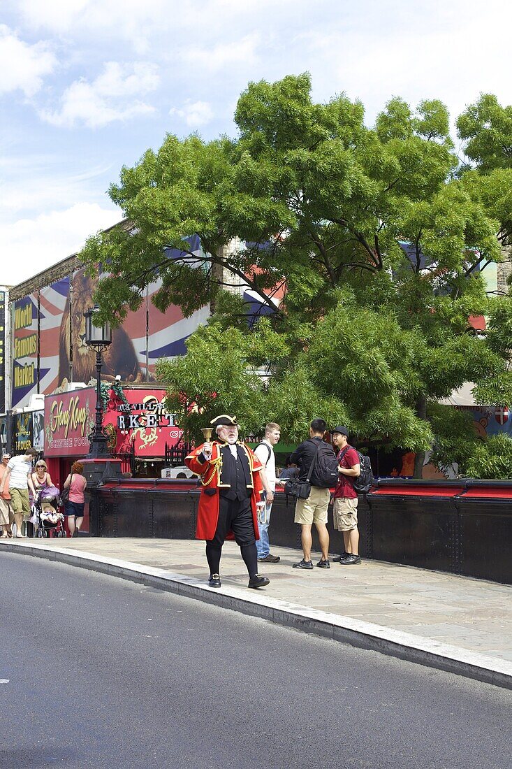
[[32, 219], [0, 225], [2, 283], [17, 285], [74, 254], [89, 235], [121, 221], [115, 208], [76, 203]]

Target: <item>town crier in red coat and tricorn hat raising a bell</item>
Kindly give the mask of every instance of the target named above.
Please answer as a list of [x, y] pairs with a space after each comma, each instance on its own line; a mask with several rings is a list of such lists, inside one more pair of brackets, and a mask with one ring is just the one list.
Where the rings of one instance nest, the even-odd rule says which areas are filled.
[[258, 507], [263, 483], [261, 462], [248, 446], [238, 441], [236, 417], [221, 414], [211, 420], [217, 441], [204, 441], [195, 448], [185, 464], [201, 478], [198, 525], [195, 535], [206, 540], [206, 558], [210, 568], [208, 584], [221, 587], [222, 545], [234, 538], [249, 573], [249, 588], [263, 588], [269, 583], [258, 574]]

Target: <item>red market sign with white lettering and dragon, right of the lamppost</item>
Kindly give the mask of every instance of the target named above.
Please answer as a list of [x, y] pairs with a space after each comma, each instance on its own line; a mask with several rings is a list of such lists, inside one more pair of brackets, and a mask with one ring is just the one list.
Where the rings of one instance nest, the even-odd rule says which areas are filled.
[[123, 388], [125, 403], [111, 390], [103, 420], [110, 435], [109, 448], [115, 454], [136, 457], [164, 457], [168, 448], [181, 441], [183, 431], [175, 424], [175, 414], [165, 408], [165, 390]]

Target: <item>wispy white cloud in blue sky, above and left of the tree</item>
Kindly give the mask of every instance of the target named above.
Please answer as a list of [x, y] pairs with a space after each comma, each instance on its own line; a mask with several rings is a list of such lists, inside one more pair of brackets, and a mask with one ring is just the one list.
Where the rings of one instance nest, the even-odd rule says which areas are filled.
[[101, 128], [115, 121], [125, 121], [155, 112], [155, 108], [138, 100], [138, 96], [155, 91], [159, 77], [156, 65], [135, 62], [121, 65], [108, 62], [104, 72], [93, 82], [76, 80], [62, 95], [57, 111], [40, 110], [40, 117], [58, 128], [78, 124]]

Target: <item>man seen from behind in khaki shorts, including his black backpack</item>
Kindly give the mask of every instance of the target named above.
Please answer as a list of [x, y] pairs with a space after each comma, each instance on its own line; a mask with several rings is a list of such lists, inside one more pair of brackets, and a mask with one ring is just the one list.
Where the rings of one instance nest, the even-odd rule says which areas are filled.
[[301, 524], [301, 543], [304, 558], [294, 569], [312, 569], [311, 561], [311, 526], [318, 531], [322, 551], [317, 566], [331, 568], [329, 564], [329, 534], [327, 531], [327, 508], [331, 499], [329, 487], [336, 484], [337, 461], [331, 446], [324, 441], [327, 424], [324, 419], [314, 419], [309, 430], [310, 438], [303, 441], [291, 454], [290, 461], [299, 467], [298, 480], [311, 484], [311, 491], [306, 499], [298, 499], [295, 505], [296, 524]]

